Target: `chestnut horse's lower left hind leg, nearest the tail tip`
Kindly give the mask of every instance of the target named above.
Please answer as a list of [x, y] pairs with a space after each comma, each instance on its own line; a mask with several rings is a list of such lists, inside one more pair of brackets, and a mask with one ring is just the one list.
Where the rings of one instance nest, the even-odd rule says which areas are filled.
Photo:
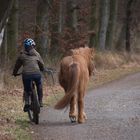
[[71, 101], [70, 101], [69, 118], [70, 118], [72, 123], [77, 121], [76, 96], [73, 96]]

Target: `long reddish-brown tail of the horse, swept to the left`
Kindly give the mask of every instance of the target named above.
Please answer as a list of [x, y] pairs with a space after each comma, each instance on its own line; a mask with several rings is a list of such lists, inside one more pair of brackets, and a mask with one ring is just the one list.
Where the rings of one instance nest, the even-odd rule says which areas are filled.
[[70, 65], [69, 68], [69, 77], [67, 77], [68, 79], [68, 89], [66, 90], [66, 94], [65, 96], [58, 101], [58, 103], [55, 105], [55, 109], [63, 109], [66, 106], [68, 106], [68, 104], [70, 103], [71, 98], [74, 96], [77, 87], [78, 87], [78, 79], [79, 79], [79, 69], [78, 69], [78, 65], [73, 63], [72, 65]]

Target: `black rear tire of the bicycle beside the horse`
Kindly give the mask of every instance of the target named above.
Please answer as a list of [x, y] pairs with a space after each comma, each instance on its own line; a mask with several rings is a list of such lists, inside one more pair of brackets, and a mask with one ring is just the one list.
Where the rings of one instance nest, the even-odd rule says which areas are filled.
[[35, 90], [32, 91], [32, 97], [33, 97], [33, 101], [32, 101], [33, 122], [35, 122], [35, 124], [39, 124], [40, 104]]

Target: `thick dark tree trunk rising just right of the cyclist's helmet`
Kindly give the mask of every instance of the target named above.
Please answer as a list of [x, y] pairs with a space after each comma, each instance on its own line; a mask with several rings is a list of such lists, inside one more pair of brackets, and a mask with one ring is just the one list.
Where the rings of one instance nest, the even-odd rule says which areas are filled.
[[38, 0], [36, 16], [36, 46], [43, 57], [49, 46], [49, 9], [46, 0]]

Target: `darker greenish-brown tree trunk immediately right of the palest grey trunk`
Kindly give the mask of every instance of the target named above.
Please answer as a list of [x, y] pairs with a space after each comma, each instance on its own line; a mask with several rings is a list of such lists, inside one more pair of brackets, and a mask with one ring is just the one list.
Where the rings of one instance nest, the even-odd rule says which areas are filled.
[[117, 17], [117, 0], [110, 0], [110, 17], [107, 31], [106, 48], [111, 50], [113, 48], [114, 31], [116, 27]]

